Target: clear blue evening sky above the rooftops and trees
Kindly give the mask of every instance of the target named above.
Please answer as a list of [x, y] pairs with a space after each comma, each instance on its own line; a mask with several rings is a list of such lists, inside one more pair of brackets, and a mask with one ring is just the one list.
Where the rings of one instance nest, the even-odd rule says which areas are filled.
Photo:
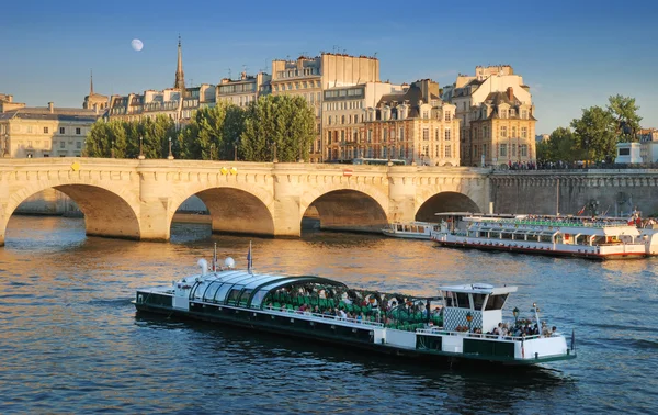
[[[186, 85], [271, 72], [274, 58], [340, 51], [379, 58], [382, 80], [451, 85], [509, 64], [531, 87], [537, 134], [633, 97], [658, 127], [658, 1], [12, 1], [0, 23], [0, 93], [81, 108], [94, 91], [173, 87], [179, 33]], [[131, 41], [139, 38], [136, 52]]]

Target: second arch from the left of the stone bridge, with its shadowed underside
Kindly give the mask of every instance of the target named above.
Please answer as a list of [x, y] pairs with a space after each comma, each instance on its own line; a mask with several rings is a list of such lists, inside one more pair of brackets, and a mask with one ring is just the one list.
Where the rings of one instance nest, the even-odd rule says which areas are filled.
[[213, 233], [266, 236], [275, 234], [271, 211], [273, 198], [263, 189], [249, 183], [192, 186], [186, 192], [172, 198], [168, 211], [170, 226], [175, 211], [192, 195], [196, 195], [206, 205]]

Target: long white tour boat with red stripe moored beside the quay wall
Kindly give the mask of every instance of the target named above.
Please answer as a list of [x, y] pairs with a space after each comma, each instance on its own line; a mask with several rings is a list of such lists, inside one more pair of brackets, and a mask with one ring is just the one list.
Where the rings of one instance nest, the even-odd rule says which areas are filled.
[[629, 218], [436, 213], [432, 240], [442, 246], [591, 259], [658, 255], [658, 233]]

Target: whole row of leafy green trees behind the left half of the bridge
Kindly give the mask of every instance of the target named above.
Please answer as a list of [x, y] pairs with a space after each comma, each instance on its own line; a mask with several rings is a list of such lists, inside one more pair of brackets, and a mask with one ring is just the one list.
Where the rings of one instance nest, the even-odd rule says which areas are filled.
[[[169, 138], [175, 158], [201, 160], [271, 161], [276, 144], [281, 161], [307, 158], [315, 135], [315, 113], [302, 97], [266, 96], [247, 111], [218, 102], [194, 112], [177, 132], [166, 115], [155, 120], [95, 122], [87, 137], [86, 156], [137, 158], [139, 144], [146, 158], [167, 158]], [[113, 152], [114, 150], [114, 152]]]

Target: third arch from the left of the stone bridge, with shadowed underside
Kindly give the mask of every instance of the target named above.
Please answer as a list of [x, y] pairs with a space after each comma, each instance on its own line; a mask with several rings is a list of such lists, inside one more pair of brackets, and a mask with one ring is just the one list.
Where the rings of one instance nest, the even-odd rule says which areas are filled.
[[334, 231], [379, 232], [388, 222], [382, 203], [366, 192], [354, 189], [326, 191], [302, 203], [300, 220], [309, 212], [317, 212], [320, 228]]

